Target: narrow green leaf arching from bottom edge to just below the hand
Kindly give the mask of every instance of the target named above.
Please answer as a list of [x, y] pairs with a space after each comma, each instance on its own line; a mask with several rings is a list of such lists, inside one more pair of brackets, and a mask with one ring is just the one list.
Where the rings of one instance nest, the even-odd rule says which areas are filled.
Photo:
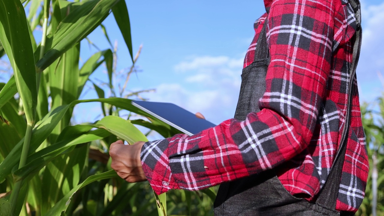
[[93, 176], [89, 176], [83, 183], [79, 184], [78, 186], [74, 187], [68, 194], [66, 194], [58, 203], [53, 206], [53, 208], [50, 209], [45, 215], [46, 216], [51, 216], [51, 215], [60, 215], [62, 212], [64, 212], [67, 208], [68, 205], [70, 204], [71, 198], [76, 191], [79, 189], [83, 188], [84, 186], [94, 182], [94, 181], [99, 181], [103, 179], [110, 179], [118, 177], [116, 172], [114, 170], [106, 171], [105, 173], [101, 174], [96, 174]]

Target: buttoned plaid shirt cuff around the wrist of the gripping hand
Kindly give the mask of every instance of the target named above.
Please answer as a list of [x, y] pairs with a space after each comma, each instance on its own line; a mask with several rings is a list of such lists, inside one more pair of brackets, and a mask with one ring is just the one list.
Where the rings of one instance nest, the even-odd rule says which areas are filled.
[[159, 195], [178, 185], [172, 178], [167, 151], [168, 140], [146, 142], [141, 148], [141, 164], [153, 191]]

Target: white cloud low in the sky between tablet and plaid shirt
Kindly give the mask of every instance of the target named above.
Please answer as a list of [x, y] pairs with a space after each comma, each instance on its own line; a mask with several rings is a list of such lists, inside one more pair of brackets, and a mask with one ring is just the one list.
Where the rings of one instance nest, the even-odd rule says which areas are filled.
[[228, 56], [197, 56], [174, 66], [183, 72], [179, 83], [163, 83], [151, 101], [175, 103], [193, 113], [200, 112], [213, 123], [232, 118], [241, 84], [243, 60]]

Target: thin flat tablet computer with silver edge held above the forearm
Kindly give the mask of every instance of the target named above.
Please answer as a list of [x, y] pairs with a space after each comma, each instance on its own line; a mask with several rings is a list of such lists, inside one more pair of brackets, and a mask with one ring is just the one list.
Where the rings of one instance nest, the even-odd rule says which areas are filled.
[[195, 114], [173, 103], [134, 100], [131, 103], [142, 111], [190, 136], [216, 126], [205, 119], [197, 118]]

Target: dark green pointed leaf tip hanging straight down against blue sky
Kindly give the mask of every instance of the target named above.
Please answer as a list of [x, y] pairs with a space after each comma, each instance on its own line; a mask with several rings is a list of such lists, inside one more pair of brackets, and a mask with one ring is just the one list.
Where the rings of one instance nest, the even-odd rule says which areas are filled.
[[118, 23], [120, 32], [124, 41], [128, 47], [129, 54], [133, 62], [133, 51], [132, 51], [132, 37], [131, 37], [131, 24], [129, 23], [129, 15], [127, 5], [124, 0], [120, 0], [112, 8], [113, 16], [115, 17], [116, 23]]

